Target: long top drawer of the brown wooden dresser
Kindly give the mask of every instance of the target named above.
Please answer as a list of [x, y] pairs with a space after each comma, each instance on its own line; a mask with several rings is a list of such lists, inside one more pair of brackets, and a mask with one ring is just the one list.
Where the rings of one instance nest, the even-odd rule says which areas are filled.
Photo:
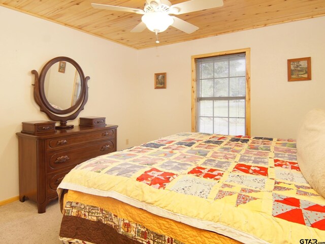
[[92, 140], [112, 138], [115, 137], [115, 134], [116, 134], [116, 129], [107, 129], [107, 130], [91, 132], [88, 134], [64, 136], [64, 137], [57, 137], [54, 139], [48, 139], [46, 141], [46, 144], [48, 150], [53, 148], [58, 149], [59, 147], [61, 148], [70, 147], [73, 145], [89, 142]]

